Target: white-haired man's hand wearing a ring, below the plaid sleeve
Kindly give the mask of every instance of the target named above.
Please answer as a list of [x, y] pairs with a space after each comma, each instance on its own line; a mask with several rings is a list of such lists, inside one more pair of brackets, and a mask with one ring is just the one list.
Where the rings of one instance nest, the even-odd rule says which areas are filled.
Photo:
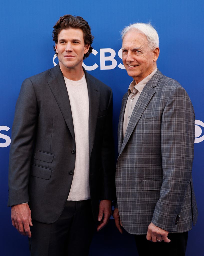
[[[169, 243], [171, 240], [168, 239], [168, 231], [155, 226], [152, 222], [149, 224], [147, 229], [147, 240], [152, 242], [164, 242]], [[159, 241], [158, 241], [159, 240]]]

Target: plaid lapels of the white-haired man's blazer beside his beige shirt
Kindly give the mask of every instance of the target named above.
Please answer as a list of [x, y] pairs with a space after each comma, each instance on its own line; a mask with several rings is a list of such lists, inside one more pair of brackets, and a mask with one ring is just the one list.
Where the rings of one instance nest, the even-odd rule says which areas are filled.
[[[122, 146], [119, 151], [119, 155], [122, 153], [123, 149], [125, 148], [133, 130], [135, 129], [135, 126], [137, 125], [139, 119], [141, 118], [141, 115], [143, 114], [144, 110], [146, 109], [149, 101], [151, 100], [152, 96], [155, 93], [155, 90], [153, 89], [155, 86], [157, 86], [159, 79], [162, 77], [162, 73], [157, 70], [154, 76], [146, 83], [142, 93], [139, 96], [139, 99], [137, 103], [135, 104], [135, 107], [133, 109], [130, 121], [127, 126], [127, 130], [125, 133], [124, 140], [122, 142]], [[128, 98], [128, 96], [127, 96]], [[126, 98], [126, 102], [127, 102]], [[124, 112], [125, 112], [125, 106], [126, 103], [124, 104], [124, 110], [123, 110], [123, 119], [124, 119]], [[121, 121], [121, 120], [120, 120]], [[121, 122], [123, 123], [123, 121]], [[122, 128], [121, 128], [122, 129]]]

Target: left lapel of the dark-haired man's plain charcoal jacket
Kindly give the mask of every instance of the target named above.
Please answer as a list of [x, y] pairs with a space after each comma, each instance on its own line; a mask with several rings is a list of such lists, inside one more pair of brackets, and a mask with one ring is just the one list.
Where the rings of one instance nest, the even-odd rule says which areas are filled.
[[65, 79], [60, 70], [59, 64], [50, 70], [49, 75], [51, 76], [52, 79], [48, 81], [48, 85], [57, 101], [57, 104], [61, 110], [61, 113], [65, 119], [65, 122], [69, 128], [69, 131], [73, 139], [75, 140], [74, 125], [73, 125], [69, 95], [67, 92]]

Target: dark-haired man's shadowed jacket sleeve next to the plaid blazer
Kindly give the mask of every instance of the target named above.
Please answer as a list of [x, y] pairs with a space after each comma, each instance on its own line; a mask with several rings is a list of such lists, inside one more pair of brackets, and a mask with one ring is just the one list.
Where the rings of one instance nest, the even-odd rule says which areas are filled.
[[115, 165], [114, 165], [114, 141], [113, 141], [113, 129], [112, 129], [112, 117], [113, 117], [113, 95], [110, 89], [110, 98], [108, 103], [108, 113], [106, 115], [104, 130], [103, 130], [103, 142], [102, 142], [102, 192], [101, 200], [109, 199], [114, 200], [116, 198], [115, 192]]

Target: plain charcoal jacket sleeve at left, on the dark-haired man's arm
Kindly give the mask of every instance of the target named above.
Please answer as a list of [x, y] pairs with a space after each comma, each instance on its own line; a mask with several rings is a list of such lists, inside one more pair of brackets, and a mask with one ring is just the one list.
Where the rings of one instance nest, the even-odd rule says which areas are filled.
[[8, 206], [29, 201], [28, 182], [38, 117], [37, 100], [30, 79], [24, 80], [16, 103], [9, 156]]

